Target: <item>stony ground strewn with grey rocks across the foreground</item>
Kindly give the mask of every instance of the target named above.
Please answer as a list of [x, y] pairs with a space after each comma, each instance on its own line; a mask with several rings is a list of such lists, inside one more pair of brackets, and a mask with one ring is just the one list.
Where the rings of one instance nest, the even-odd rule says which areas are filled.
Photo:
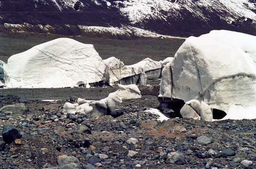
[[[19, 36], [16, 38], [21, 42]], [[6, 46], [15, 44], [8, 39], [4, 42]], [[148, 42], [144, 39], [138, 43], [147, 46]], [[11, 50], [0, 51], [7, 56]], [[22, 103], [13, 112], [0, 112], [0, 169], [256, 168], [256, 120], [203, 122], [172, 118], [160, 122], [158, 115], [147, 112], [159, 106], [159, 80], [149, 80], [148, 84], [151, 86], [139, 86], [141, 99], [126, 100], [117, 106], [121, 113], [117, 117], [62, 113], [65, 102], [74, 103], [70, 96], [100, 100], [116, 91], [116, 86], [0, 89], [0, 108]], [[44, 99], [54, 101], [41, 101]]]

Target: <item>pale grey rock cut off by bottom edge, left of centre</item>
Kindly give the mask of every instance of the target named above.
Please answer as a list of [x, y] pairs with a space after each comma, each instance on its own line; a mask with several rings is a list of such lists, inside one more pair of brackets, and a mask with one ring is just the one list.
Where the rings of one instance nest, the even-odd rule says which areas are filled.
[[79, 160], [73, 156], [60, 155], [57, 157], [58, 169], [81, 169]]

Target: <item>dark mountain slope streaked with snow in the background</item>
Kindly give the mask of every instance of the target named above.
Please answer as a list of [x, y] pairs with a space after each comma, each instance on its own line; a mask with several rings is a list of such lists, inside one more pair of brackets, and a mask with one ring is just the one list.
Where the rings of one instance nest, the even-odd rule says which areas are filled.
[[256, 35], [256, 0], [0, 0], [0, 30], [10, 31], [4, 23], [50, 25], [51, 33], [76, 35], [83, 32], [78, 25], [185, 37], [218, 29]]

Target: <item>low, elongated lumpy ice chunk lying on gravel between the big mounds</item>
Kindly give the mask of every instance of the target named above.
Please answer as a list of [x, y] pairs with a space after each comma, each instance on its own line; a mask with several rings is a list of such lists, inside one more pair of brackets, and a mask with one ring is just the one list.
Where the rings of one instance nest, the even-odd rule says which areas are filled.
[[65, 103], [63, 106], [63, 113], [80, 112], [84, 114], [92, 114], [94, 116], [101, 115], [116, 115], [116, 106], [122, 103], [123, 100], [141, 98], [140, 90], [135, 84], [122, 85], [118, 84], [119, 88], [116, 92], [109, 93], [107, 98], [99, 101], [91, 101], [78, 99], [75, 104]]

